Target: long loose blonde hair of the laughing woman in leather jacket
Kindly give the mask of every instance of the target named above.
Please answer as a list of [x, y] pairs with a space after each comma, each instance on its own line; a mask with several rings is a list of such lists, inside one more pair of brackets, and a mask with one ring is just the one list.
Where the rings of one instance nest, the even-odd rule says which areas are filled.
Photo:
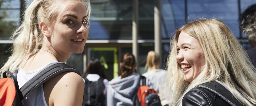
[[[181, 31], [199, 40], [205, 57], [201, 73], [191, 83], [184, 81], [182, 68], [176, 59]], [[162, 91], [169, 95], [171, 106], [181, 106], [184, 95], [190, 89], [213, 80], [224, 83], [242, 104], [256, 104], [255, 68], [224, 22], [217, 19], [189, 22], [176, 31], [171, 46], [167, 63], [168, 75], [164, 84], [166, 89]]]

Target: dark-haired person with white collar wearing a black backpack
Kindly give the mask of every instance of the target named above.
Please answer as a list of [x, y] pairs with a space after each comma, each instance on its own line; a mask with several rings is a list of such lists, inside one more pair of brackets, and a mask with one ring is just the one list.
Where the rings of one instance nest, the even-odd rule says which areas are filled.
[[82, 75], [85, 80], [82, 106], [107, 106], [106, 93], [108, 80], [99, 59], [92, 58]]

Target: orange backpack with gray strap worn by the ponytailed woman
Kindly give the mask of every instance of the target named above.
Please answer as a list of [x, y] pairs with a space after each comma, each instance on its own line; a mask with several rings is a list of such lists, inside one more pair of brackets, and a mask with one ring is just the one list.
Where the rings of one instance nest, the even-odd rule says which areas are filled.
[[[5, 71], [0, 79], [0, 106], [25, 106], [22, 102], [32, 91], [44, 84], [47, 80], [63, 72], [79, 72], [65, 63], [57, 62], [43, 69], [40, 73], [32, 77], [20, 89], [16, 77], [10, 72]], [[10, 78], [7, 78], [7, 75]], [[12, 79], [11, 79], [12, 78]]]

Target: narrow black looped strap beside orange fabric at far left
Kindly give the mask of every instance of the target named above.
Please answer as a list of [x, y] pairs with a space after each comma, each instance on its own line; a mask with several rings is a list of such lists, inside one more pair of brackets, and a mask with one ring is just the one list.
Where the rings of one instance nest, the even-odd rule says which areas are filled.
[[[19, 95], [19, 98], [23, 98], [22, 96], [22, 92], [20, 91], [20, 88], [19, 88], [19, 84], [18, 84], [18, 81], [17, 81], [17, 78], [10, 72], [10, 71], [5, 71], [3, 73], [3, 77], [4, 78], [7, 78], [7, 75], [6, 74], [9, 74], [11, 75], [13, 81], [14, 81], [14, 85], [15, 85], [15, 89], [16, 89], [16, 93]], [[16, 96], [17, 96], [16, 94]], [[16, 97], [15, 97], [16, 98]]]

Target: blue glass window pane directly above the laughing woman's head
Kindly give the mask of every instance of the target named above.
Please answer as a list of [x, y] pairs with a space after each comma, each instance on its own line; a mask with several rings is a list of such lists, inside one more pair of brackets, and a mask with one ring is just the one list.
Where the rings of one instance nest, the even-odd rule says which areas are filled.
[[240, 37], [238, 0], [187, 0], [187, 11], [189, 21], [215, 17], [227, 24], [235, 37]]

